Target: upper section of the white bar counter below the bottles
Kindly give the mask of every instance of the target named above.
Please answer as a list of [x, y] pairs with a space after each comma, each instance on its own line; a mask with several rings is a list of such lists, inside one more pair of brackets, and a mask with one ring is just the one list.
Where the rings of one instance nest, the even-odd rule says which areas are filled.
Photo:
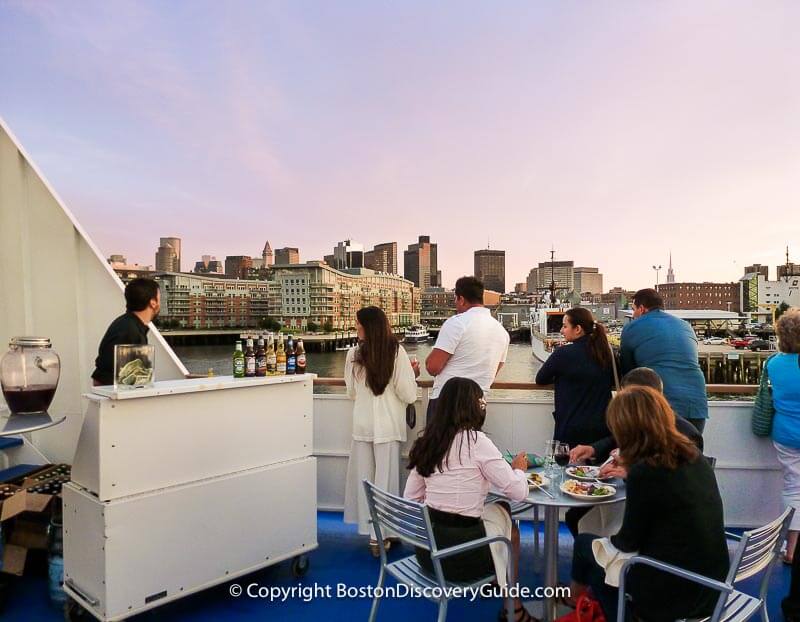
[[313, 374], [95, 387], [72, 481], [110, 501], [310, 456]]

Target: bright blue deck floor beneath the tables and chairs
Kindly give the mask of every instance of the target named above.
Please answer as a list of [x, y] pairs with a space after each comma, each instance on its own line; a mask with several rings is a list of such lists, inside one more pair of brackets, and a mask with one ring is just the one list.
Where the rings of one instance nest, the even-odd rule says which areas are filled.
[[[526, 585], [541, 585], [534, 569], [533, 530], [523, 524], [523, 551], [521, 579]], [[406, 555], [408, 549], [399, 547], [392, 556]], [[560, 537], [559, 572], [562, 581], [569, 579], [572, 538], [562, 526]], [[267, 568], [231, 583], [263, 586], [291, 587], [314, 583], [330, 585], [333, 592], [337, 584], [348, 587], [371, 586], [378, 576], [378, 562], [366, 548], [366, 542], [355, 533], [355, 528], [342, 522], [341, 513], [319, 512], [319, 548], [311, 553], [311, 568], [302, 580], [294, 579], [288, 562]], [[781, 620], [780, 601], [788, 591], [789, 568], [779, 566], [773, 573], [770, 584], [769, 613], [772, 620]], [[290, 599], [286, 602], [270, 602], [247, 597], [233, 598], [229, 594], [231, 583], [221, 585], [201, 594], [189, 596], [175, 603], [164, 605], [140, 616], [136, 620], [218, 621], [218, 620], [366, 620], [370, 601], [366, 598], [315, 599], [303, 602]], [[750, 580], [741, 588], [756, 593], [757, 586]], [[496, 620], [500, 601], [483, 599], [476, 602], [453, 601], [449, 609], [449, 620]], [[60, 610], [49, 605], [47, 585], [43, 577], [25, 578], [17, 581], [9, 596], [3, 620], [10, 622], [56, 622], [63, 620]], [[409, 598], [384, 600], [378, 620], [408, 622], [409, 620], [432, 620], [436, 618], [436, 607], [424, 599]]]

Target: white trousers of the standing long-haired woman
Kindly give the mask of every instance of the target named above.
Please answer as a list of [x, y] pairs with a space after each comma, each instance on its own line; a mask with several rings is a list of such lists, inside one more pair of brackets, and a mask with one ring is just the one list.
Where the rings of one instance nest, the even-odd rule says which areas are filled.
[[[375, 539], [375, 530], [369, 522], [363, 480], [393, 495], [400, 494], [400, 441], [352, 441], [350, 445], [344, 490], [344, 522], [357, 524], [358, 533], [362, 536], [369, 534]], [[391, 534], [383, 534], [383, 537], [388, 535]]]

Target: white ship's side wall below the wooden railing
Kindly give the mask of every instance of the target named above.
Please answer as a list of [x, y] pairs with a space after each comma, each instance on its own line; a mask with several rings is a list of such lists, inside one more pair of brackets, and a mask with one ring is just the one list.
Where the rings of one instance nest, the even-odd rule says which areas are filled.
[[[352, 402], [344, 395], [314, 396], [314, 455], [317, 460], [317, 506], [341, 510], [352, 430]], [[417, 426], [424, 424], [426, 398], [417, 402]], [[725, 524], [764, 524], [782, 510], [780, 466], [769, 439], [750, 431], [752, 403], [709, 402], [711, 419], [705, 453], [717, 458], [716, 474], [725, 504]], [[485, 431], [501, 449], [542, 454], [553, 432], [549, 399], [490, 399]], [[415, 434], [403, 449], [403, 458]], [[405, 483], [405, 469], [401, 469]], [[401, 486], [402, 489], [402, 486]]]

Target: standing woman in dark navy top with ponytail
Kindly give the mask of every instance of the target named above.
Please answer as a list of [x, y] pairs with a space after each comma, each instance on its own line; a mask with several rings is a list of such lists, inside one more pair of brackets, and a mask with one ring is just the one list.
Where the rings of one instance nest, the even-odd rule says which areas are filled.
[[[573, 307], [564, 314], [561, 335], [566, 345], [556, 348], [536, 374], [537, 384], [555, 385], [553, 439], [567, 443], [570, 460], [605, 460], [613, 447], [606, 425], [614, 373], [605, 327], [592, 312]], [[578, 521], [591, 508], [567, 510], [565, 521], [573, 535]]]

